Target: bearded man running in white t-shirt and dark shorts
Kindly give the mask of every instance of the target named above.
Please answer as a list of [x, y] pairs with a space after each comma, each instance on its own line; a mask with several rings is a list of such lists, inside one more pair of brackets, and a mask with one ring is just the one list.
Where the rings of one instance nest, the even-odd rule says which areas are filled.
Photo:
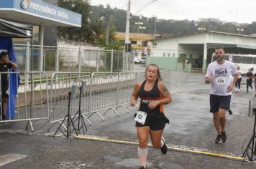
[[[232, 90], [238, 78], [236, 66], [225, 60], [224, 55], [223, 48], [215, 50], [216, 61], [207, 67], [205, 78], [206, 84], [211, 82], [210, 112], [213, 113], [214, 126], [218, 132], [216, 144], [227, 142], [226, 111], [229, 109]], [[233, 80], [232, 76], [234, 76]]]

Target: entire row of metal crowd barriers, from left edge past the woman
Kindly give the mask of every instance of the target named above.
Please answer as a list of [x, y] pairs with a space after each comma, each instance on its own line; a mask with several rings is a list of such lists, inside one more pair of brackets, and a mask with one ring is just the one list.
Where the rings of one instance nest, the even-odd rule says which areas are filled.
[[[3, 120], [1, 116], [0, 123], [27, 121], [32, 130], [33, 120], [49, 120], [50, 124], [56, 124], [65, 118], [69, 105], [68, 93], [73, 84], [76, 85], [76, 97], [70, 102], [70, 115], [75, 117], [79, 110], [79, 94], [83, 81], [81, 113], [91, 124], [93, 115], [97, 115], [93, 120], [98, 117], [104, 120], [107, 112], [118, 116], [122, 112], [129, 113], [134, 84], [145, 79], [145, 72], [55, 72], [51, 79], [47, 78], [45, 72], [1, 72], [0, 82], [1, 78], [6, 78], [4, 74], [8, 75], [9, 98], [7, 120]], [[172, 92], [178, 92], [180, 84], [186, 79], [184, 72], [175, 70], [164, 70], [161, 74]], [[6, 91], [2, 86], [0, 89], [2, 110]]]

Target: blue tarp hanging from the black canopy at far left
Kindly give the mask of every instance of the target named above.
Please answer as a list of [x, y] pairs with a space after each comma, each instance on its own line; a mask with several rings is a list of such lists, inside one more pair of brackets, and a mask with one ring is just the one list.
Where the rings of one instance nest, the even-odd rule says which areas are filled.
[[[14, 46], [12, 44], [12, 38], [0, 37], [0, 49], [7, 50], [9, 59], [16, 63], [17, 59], [14, 53]], [[11, 69], [11, 72], [18, 72], [18, 69]], [[17, 74], [9, 75], [9, 100], [7, 104], [6, 117], [13, 119], [15, 116], [15, 100], [17, 95], [17, 81], [19, 83], [19, 77]]]

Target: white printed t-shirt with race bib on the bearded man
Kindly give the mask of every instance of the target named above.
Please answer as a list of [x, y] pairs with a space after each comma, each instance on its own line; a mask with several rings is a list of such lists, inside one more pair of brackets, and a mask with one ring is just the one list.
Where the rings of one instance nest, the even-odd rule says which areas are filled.
[[214, 80], [211, 81], [211, 94], [231, 95], [232, 92], [228, 92], [227, 89], [232, 84], [234, 74], [237, 74], [237, 68], [233, 62], [225, 60], [224, 64], [218, 64], [216, 61], [209, 64], [206, 77], [214, 77]]

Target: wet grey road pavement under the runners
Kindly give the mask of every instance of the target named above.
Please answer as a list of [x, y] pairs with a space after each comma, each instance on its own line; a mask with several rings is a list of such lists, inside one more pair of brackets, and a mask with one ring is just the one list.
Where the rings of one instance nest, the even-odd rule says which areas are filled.
[[[209, 112], [209, 85], [204, 84], [204, 74], [183, 74], [186, 82], [180, 84], [180, 92], [173, 94], [173, 102], [165, 106], [165, 115], [170, 119], [164, 137], [169, 146], [194, 148], [224, 155], [242, 155], [242, 147], [252, 134], [253, 119], [247, 116], [248, 102], [255, 94], [233, 92], [232, 111], [227, 113], [228, 142], [216, 145], [216, 131]], [[182, 77], [184, 78], [184, 77]], [[120, 117], [111, 110], [102, 121], [97, 115], [90, 119], [86, 135], [112, 140], [137, 142], [134, 127], [136, 107], [128, 107], [129, 114], [119, 108]], [[0, 168], [138, 168], [137, 146], [106, 143], [63, 137], [49, 137], [58, 125], [47, 131], [47, 122], [36, 122], [35, 133], [24, 130], [26, 122], [0, 125]], [[21, 134], [27, 133], [27, 134]], [[58, 132], [58, 135], [61, 135]], [[1, 166], [1, 157], [8, 154], [23, 155], [21, 159]], [[25, 155], [25, 156], [24, 156]], [[150, 148], [149, 168], [255, 168], [253, 163], [216, 158], [177, 151], [161, 155], [160, 150]]]

